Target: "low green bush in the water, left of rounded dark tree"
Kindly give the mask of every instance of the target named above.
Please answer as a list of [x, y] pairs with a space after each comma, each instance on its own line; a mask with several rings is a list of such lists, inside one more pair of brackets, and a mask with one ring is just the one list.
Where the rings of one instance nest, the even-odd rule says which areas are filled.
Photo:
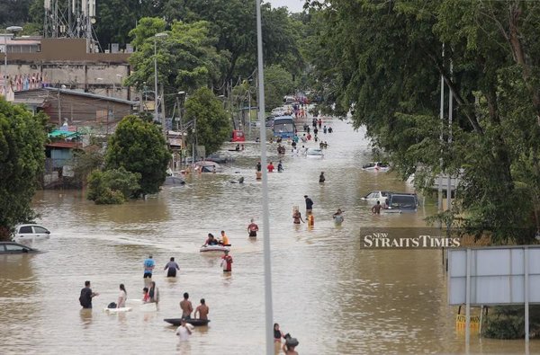
[[88, 176], [86, 198], [98, 205], [118, 205], [136, 196], [140, 190], [140, 173], [119, 169], [94, 170]]

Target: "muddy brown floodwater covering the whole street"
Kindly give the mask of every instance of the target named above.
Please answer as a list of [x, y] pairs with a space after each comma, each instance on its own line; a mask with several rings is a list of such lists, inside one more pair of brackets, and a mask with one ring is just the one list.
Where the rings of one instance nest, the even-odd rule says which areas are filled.
[[[455, 307], [446, 304], [446, 273], [439, 250], [366, 250], [361, 226], [425, 226], [435, 210], [426, 200], [417, 213], [371, 214], [360, 200], [372, 190], [412, 191], [393, 173], [360, 170], [370, 160], [364, 132], [329, 120], [320, 134], [329, 148], [322, 160], [284, 156], [284, 173], [269, 174], [270, 234], [275, 322], [300, 341], [302, 354], [460, 353], [464, 334], [455, 330]], [[311, 142], [309, 146], [314, 146]], [[301, 145], [302, 146], [302, 145]], [[224, 150], [230, 148], [228, 144]], [[277, 165], [275, 144], [269, 159]], [[0, 353], [63, 354], [261, 354], [265, 349], [263, 238], [248, 240], [251, 217], [261, 225], [261, 183], [255, 180], [259, 146], [226, 152], [236, 162], [224, 173], [187, 179], [147, 200], [95, 206], [80, 191], [40, 191], [34, 207], [49, 227], [49, 241], [33, 246], [48, 253], [0, 255]], [[325, 172], [326, 182], [318, 177]], [[245, 177], [244, 184], [230, 183]], [[315, 202], [315, 226], [293, 226], [293, 206], [304, 214], [303, 195]], [[332, 214], [345, 210], [334, 226]], [[202, 255], [207, 233], [223, 229], [232, 243], [231, 275], [218, 256]], [[139, 298], [142, 262], [157, 261], [157, 312], [137, 306], [108, 315], [124, 283]], [[163, 267], [175, 256], [180, 274], [167, 280]], [[85, 280], [92, 281], [92, 311], [78, 304]], [[179, 343], [163, 318], [180, 315], [189, 292], [193, 306], [204, 297], [211, 324]], [[523, 353], [522, 341], [472, 337], [473, 353]], [[531, 342], [530, 352], [540, 351]]]

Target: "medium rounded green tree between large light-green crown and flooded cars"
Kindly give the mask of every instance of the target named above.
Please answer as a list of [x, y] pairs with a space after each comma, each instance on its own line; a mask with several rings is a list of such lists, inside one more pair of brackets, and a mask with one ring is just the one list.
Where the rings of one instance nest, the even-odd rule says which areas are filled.
[[187, 99], [184, 119], [196, 120], [194, 134], [190, 133], [188, 139], [205, 146], [207, 154], [217, 151], [230, 137], [231, 123], [223, 110], [223, 103], [206, 87]]

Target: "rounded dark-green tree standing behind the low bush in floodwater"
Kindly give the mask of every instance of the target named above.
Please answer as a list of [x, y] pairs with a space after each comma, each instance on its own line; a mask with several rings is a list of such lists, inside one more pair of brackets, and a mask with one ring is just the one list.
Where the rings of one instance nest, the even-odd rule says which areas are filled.
[[138, 194], [156, 193], [166, 178], [170, 160], [165, 138], [153, 123], [129, 115], [124, 117], [109, 139], [105, 170], [123, 167], [140, 174]]

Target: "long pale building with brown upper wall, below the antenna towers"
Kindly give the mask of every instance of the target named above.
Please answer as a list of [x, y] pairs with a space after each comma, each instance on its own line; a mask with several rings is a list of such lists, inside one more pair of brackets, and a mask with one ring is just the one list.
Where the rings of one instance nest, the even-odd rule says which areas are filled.
[[0, 38], [0, 49], [3, 52], [7, 49], [7, 68], [0, 66], [0, 95], [4, 95], [6, 74], [6, 97], [10, 101], [16, 92], [43, 87], [66, 87], [125, 100], [131, 98], [130, 88], [122, 84], [130, 75], [130, 53], [120, 50], [87, 53], [85, 39], [13, 38], [11, 35]]

